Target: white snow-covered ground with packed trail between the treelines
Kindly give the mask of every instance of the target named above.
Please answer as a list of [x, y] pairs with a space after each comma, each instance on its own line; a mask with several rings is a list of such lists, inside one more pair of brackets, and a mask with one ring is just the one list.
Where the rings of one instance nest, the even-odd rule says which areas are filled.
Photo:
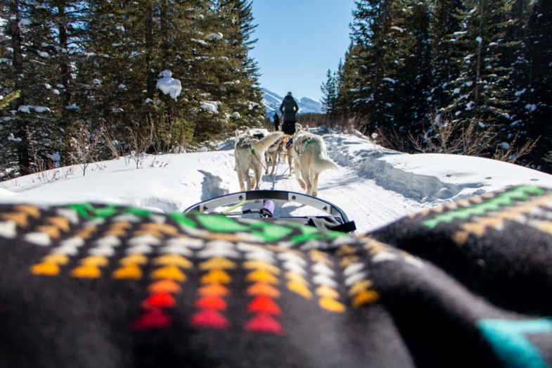
[[[507, 186], [552, 187], [551, 175], [518, 165], [469, 156], [397, 153], [358, 135], [323, 136], [328, 154], [340, 170], [321, 174], [319, 197], [345, 210], [360, 232], [412, 212]], [[288, 177], [287, 165], [278, 165], [277, 172], [276, 189], [302, 192], [295, 175]], [[60, 179], [52, 177], [50, 172], [3, 182], [0, 201], [89, 201], [181, 212], [194, 203], [239, 191], [233, 151], [148, 156], [138, 169], [134, 161], [120, 158], [90, 165], [86, 176], [77, 167], [72, 173], [68, 168], [58, 169], [56, 177]], [[261, 189], [271, 186], [270, 177], [264, 175]], [[276, 212], [317, 214], [297, 203], [278, 205]]]

